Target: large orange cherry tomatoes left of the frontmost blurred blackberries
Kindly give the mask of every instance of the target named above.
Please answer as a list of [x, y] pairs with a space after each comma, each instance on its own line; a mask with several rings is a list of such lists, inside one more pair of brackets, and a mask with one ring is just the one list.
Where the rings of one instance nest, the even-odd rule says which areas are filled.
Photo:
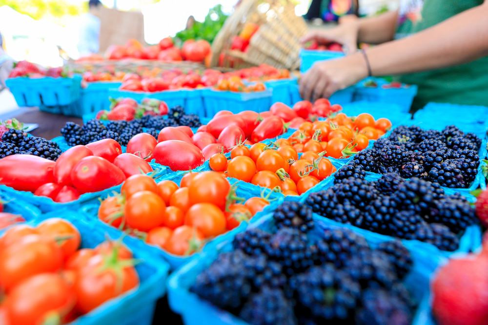
[[127, 178], [120, 195], [102, 201], [98, 216], [170, 254], [183, 256], [269, 204], [262, 197], [243, 203], [235, 187], [218, 172], [188, 172], [180, 186], [171, 180], [156, 183], [140, 174]]

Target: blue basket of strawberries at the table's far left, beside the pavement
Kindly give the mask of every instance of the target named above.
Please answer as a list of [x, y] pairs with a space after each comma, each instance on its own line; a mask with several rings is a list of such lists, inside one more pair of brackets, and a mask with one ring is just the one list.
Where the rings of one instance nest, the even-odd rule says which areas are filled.
[[61, 112], [60, 106], [70, 105], [80, 98], [81, 76], [69, 78], [17, 77], [6, 80], [19, 106], [38, 106], [50, 113]]

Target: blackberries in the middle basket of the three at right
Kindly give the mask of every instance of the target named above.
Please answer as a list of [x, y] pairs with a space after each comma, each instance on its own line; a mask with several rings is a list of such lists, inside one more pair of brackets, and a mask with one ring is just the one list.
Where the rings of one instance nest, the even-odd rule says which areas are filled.
[[441, 186], [386, 173], [369, 182], [341, 179], [325, 191], [311, 193], [305, 204], [337, 222], [453, 251], [465, 229], [477, 223], [474, 208], [462, 195], [447, 195]]

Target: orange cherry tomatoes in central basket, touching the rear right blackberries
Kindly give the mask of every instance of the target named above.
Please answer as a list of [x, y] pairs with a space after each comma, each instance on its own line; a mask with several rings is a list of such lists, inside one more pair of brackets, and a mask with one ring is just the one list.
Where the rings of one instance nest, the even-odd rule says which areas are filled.
[[216, 153], [209, 160], [210, 168], [284, 195], [305, 193], [336, 171], [321, 154], [307, 151], [299, 158], [286, 139], [269, 145], [259, 142], [250, 148], [237, 145], [230, 151], [230, 158], [227, 160], [224, 153]]

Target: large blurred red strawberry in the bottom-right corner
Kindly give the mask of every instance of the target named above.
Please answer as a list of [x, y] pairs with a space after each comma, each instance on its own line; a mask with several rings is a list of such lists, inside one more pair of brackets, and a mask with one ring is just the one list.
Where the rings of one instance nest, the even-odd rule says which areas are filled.
[[439, 325], [488, 324], [488, 258], [452, 259], [432, 282], [432, 311]]

